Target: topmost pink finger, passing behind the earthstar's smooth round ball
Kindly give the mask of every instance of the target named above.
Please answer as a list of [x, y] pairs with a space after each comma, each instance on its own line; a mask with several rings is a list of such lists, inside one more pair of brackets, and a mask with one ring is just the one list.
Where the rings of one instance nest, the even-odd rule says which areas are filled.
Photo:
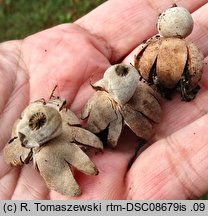
[[110, 45], [110, 60], [114, 63], [156, 33], [155, 25], [159, 13], [173, 3], [193, 12], [207, 1], [107, 1], [75, 23]]

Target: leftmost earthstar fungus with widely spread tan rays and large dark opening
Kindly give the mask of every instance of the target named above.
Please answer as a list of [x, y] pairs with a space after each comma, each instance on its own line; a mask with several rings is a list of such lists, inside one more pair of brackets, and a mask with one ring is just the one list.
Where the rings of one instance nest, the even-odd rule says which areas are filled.
[[81, 191], [73, 169], [87, 175], [98, 174], [81, 147], [102, 149], [103, 145], [97, 136], [80, 127], [78, 118], [65, 104], [65, 100], [54, 96], [47, 103], [31, 103], [16, 121], [4, 157], [11, 166], [33, 161], [50, 189], [65, 196], [78, 196]]

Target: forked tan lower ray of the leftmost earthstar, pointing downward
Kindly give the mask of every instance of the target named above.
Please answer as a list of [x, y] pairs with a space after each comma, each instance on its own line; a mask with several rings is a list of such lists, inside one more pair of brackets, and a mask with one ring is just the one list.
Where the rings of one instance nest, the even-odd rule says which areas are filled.
[[68, 135], [50, 140], [47, 145], [34, 150], [35, 167], [39, 170], [48, 187], [65, 196], [81, 193], [73, 177], [72, 168], [88, 175], [97, 175], [95, 164], [75, 143], [68, 141]]

